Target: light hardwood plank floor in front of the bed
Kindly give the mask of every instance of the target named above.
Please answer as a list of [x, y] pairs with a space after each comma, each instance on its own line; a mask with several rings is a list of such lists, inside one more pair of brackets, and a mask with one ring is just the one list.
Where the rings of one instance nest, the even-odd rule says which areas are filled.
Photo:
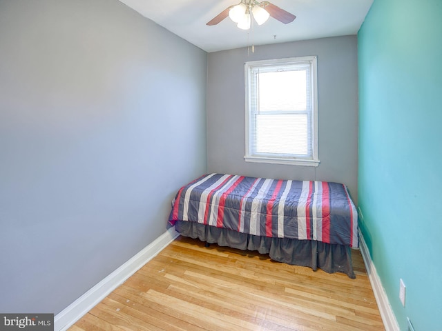
[[352, 258], [356, 279], [178, 237], [69, 330], [384, 330]]

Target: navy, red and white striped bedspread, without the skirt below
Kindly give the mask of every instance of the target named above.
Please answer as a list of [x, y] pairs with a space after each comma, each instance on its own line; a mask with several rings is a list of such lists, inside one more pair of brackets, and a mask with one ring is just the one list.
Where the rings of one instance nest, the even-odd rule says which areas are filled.
[[176, 221], [358, 247], [358, 214], [340, 183], [205, 174], [177, 192]]

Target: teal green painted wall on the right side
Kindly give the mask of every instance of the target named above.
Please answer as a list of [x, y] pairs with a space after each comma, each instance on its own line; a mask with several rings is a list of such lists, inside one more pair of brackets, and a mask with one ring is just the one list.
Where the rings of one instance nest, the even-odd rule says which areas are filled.
[[442, 330], [442, 1], [374, 0], [358, 71], [361, 230], [401, 330]]

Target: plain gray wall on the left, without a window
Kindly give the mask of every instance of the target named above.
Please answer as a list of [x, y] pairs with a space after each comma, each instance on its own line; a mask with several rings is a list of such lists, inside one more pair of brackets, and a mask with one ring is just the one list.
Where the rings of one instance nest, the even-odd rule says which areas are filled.
[[117, 0], [0, 0], [0, 312], [57, 314], [206, 171], [206, 52]]

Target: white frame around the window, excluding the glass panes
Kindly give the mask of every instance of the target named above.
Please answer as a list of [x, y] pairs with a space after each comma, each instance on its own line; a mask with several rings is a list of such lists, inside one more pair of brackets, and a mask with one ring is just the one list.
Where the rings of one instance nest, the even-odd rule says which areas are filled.
[[[317, 167], [320, 163], [318, 159], [318, 79], [317, 79], [317, 57], [291, 57], [285, 59], [269, 59], [260, 61], [247, 61], [244, 63], [244, 91], [245, 91], [245, 155], [247, 162], [276, 163], [288, 165], [305, 165]], [[311, 126], [311, 157], [294, 156], [294, 154], [265, 154], [253, 153], [251, 134], [252, 130], [252, 106], [251, 106], [251, 86], [252, 68], [271, 68], [282, 66], [296, 66], [308, 63], [310, 67], [310, 126]]]

